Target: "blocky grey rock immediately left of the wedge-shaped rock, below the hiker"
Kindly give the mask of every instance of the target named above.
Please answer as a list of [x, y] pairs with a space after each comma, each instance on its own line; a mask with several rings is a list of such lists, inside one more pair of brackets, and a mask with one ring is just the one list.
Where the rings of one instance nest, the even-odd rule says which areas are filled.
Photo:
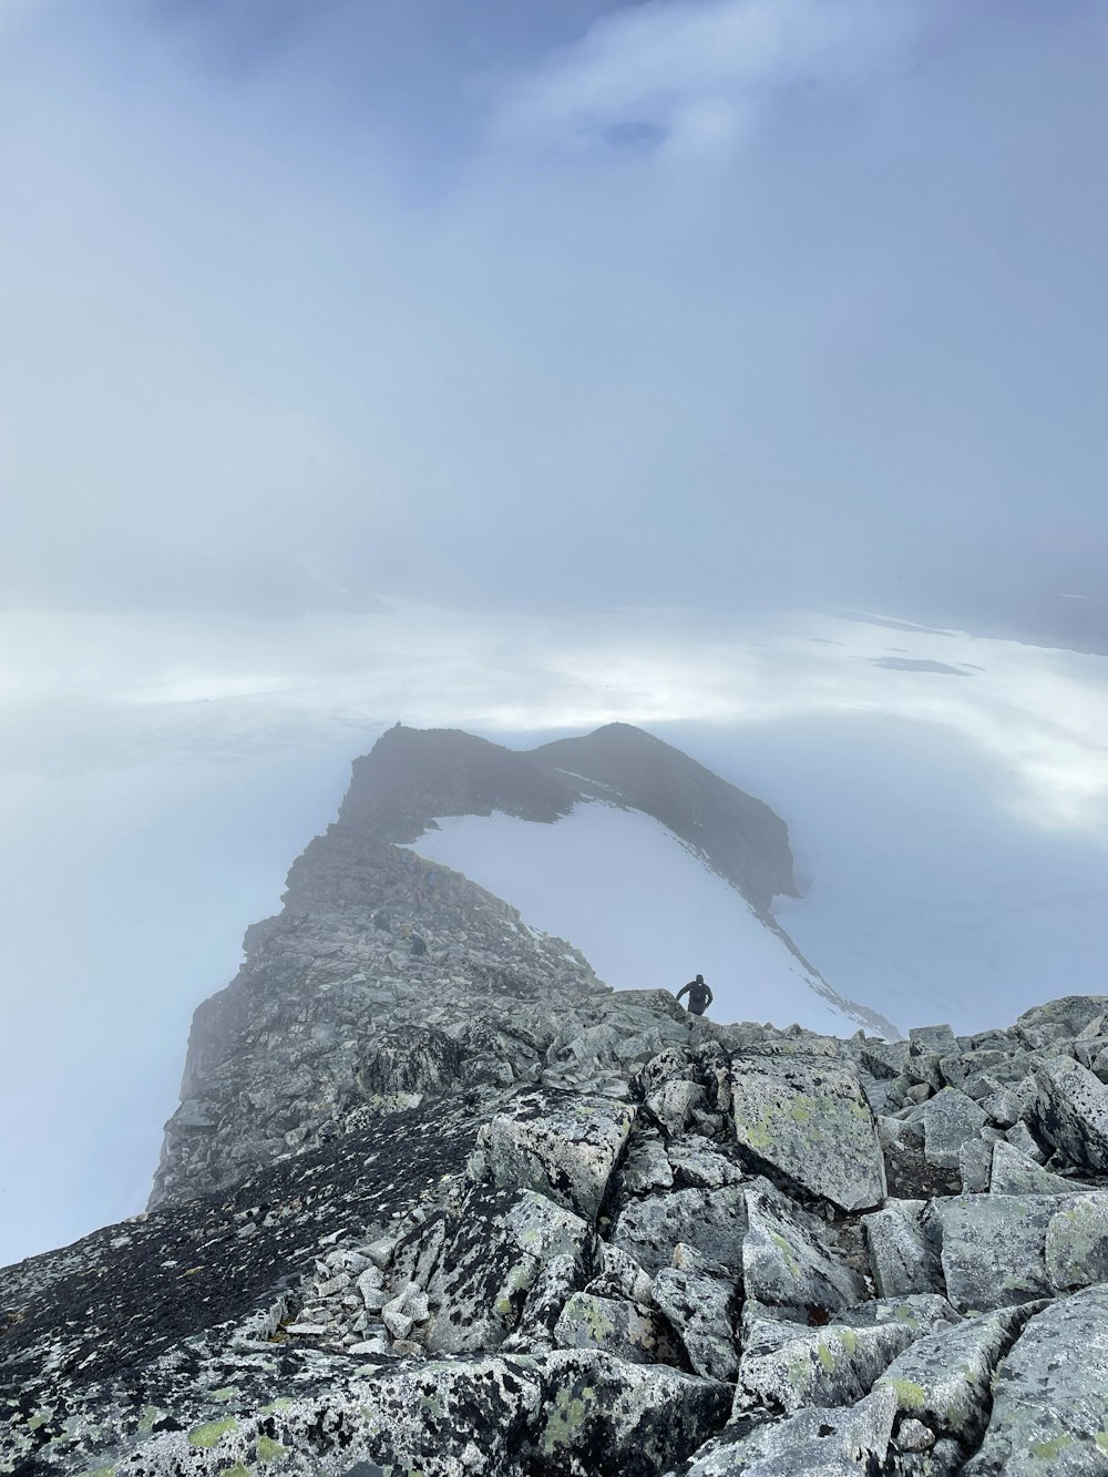
[[631, 1201], [619, 1213], [612, 1242], [647, 1272], [668, 1267], [678, 1242], [696, 1247], [709, 1261], [737, 1269], [743, 1260], [746, 1195], [739, 1186], [718, 1190], [669, 1190]]

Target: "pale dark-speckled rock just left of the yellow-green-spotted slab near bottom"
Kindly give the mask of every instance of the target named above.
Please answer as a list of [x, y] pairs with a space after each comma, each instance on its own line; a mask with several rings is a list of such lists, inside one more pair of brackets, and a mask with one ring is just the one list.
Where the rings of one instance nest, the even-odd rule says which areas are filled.
[[734, 1413], [854, 1405], [914, 1337], [900, 1322], [799, 1328], [755, 1319], [743, 1329]]

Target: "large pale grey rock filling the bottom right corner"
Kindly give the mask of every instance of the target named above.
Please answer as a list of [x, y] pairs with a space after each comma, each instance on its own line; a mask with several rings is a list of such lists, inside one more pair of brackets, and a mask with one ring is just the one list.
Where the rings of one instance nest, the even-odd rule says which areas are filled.
[[1108, 1473], [1108, 1286], [1036, 1313], [993, 1384], [993, 1413], [965, 1477]]

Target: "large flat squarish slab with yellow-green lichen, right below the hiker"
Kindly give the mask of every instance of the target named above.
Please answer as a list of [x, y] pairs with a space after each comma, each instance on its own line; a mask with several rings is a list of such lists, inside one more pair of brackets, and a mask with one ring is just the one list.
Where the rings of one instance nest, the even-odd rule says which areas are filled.
[[885, 1199], [885, 1159], [851, 1062], [821, 1056], [731, 1060], [739, 1143], [842, 1210]]

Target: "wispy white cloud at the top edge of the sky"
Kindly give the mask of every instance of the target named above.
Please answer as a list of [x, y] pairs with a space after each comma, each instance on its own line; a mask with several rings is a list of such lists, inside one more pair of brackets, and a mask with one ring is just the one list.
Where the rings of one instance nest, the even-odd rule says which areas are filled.
[[730, 151], [789, 89], [873, 86], [919, 30], [916, 0], [649, 0], [521, 77], [495, 133], [582, 151]]

